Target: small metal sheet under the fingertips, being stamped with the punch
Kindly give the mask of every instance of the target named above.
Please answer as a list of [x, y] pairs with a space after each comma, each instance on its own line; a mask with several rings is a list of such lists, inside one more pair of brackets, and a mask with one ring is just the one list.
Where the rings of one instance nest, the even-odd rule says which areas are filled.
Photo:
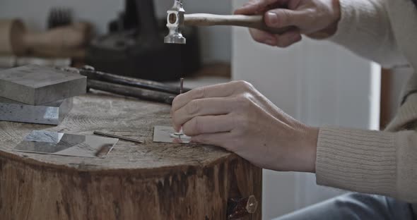
[[170, 126], [155, 126], [153, 128], [153, 142], [188, 144], [191, 138], [186, 135], [177, 135]]

